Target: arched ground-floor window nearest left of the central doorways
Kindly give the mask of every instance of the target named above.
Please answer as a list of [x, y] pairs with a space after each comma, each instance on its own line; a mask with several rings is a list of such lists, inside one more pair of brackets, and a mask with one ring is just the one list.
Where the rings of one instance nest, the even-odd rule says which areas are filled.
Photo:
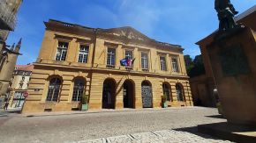
[[74, 82], [72, 101], [81, 101], [85, 89], [85, 80], [76, 79]]

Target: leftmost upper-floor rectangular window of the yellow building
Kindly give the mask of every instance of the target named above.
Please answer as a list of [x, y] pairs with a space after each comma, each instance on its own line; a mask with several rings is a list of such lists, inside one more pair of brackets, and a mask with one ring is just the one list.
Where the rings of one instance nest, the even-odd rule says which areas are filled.
[[58, 42], [57, 50], [56, 50], [56, 61], [65, 61], [68, 49], [68, 43], [66, 42]]

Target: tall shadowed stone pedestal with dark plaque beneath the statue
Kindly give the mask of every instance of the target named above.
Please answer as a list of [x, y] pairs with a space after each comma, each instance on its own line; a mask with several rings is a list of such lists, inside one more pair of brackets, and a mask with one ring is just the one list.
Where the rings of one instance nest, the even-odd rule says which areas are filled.
[[256, 125], [255, 39], [256, 32], [242, 28], [217, 36], [207, 46], [223, 115], [229, 123]]

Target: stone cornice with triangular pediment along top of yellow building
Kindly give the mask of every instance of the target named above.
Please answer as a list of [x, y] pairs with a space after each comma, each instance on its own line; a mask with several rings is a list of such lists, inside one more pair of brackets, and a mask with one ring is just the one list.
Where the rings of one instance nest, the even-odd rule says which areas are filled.
[[[100, 39], [109, 39], [114, 41], [119, 41], [124, 43], [124, 45], [128, 45], [130, 43], [137, 44], [139, 46], [149, 46], [157, 49], [162, 49], [166, 51], [173, 51], [177, 53], [183, 53], [184, 48], [178, 45], [171, 45], [169, 43], [163, 43], [156, 41], [154, 39], [150, 39], [142, 33], [136, 31], [132, 27], [121, 27], [121, 28], [113, 28], [113, 29], [100, 29], [100, 28], [90, 28], [82, 25], [73, 25], [64, 23], [56, 20], [49, 20], [49, 22], [44, 22], [46, 25], [46, 30], [56, 31], [56, 32], [65, 32], [76, 34], [80, 36], [86, 36], [94, 38], [95, 34], [97, 38]], [[123, 33], [123, 35], [118, 33], [112, 33], [114, 31], [119, 30], [120, 32], [129, 32]], [[131, 36], [132, 35], [132, 36]], [[139, 38], [140, 37], [140, 38]]]

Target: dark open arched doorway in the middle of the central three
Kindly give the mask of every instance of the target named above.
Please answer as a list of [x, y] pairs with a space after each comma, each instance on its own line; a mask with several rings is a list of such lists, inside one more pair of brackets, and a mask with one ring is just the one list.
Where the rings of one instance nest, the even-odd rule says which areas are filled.
[[134, 83], [126, 80], [123, 84], [123, 103], [124, 108], [135, 108], [134, 106]]

